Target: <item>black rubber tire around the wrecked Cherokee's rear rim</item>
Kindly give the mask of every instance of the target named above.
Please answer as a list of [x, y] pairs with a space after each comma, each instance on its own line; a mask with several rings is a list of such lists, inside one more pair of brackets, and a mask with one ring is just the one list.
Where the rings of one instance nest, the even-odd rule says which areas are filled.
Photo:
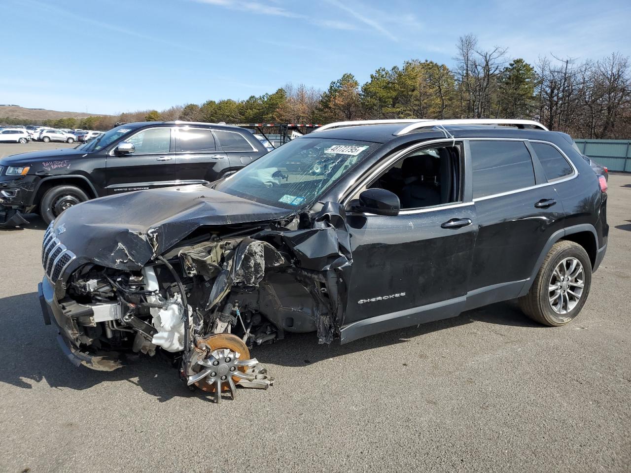
[[[582, 288], [579, 288], [571, 282], [565, 283], [563, 279], [557, 280], [556, 276], [553, 277], [557, 267], [563, 260], [567, 260], [568, 258], [577, 259], [582, 265]], [[571, 261], [568, 264], [571, 264]], [[577, 270], [575, 269], [575, 271]], [[528, 294], [519, 298], [519, 307], [526, 315], [528, 315], [528, 317], [532, 318], [536, 322], [540, 322], [540, 324], [548, 325], [550, 327], [558, 327], [560, 325], [568, 324], [574, 320], [577, 315], [579, 315], [579, 312], [581, 312], [581, 309], [585, 305], [587, 296], [589, 296], [589, 288], [591, 286], [591, 273], [591, 261], [589, 260], [589, 255], [587, 255], [587, 252], [583, 247], [581, 247], [581, 245], [567, 240], [557, 242], [552, 245], [550, 252], [548, 252], [543, 260], [543, 264], [541, 265], [537, 276], [534, 278], [533, 285], [531, 286], [530, 291], [528, 291]], [[571, 276], [571, 274], [569, 276]], [[581, 281], [579, 281], [579, 279], [580, 278], [575, 279], [575, 281], [580, 283]], [[553, 281], [555, 284], [552, 284]], [[570, 301], [568, 299], [567, 306], [565, 306], [567, 307], [565, 308], [565, 312], [558, 313], [553, 310], [553, 303], [550, 301], [550, 294], [552, 293], [552, 297], [554, 297], [557, 291], [550, 291], [550, 288], [563, 283], [569, 284], [569, 286], [564, 287], [566, 292], [570, 292], [570, 295], [574, 296], [574, 291], [578, 292], [579, 289], [581, 289], [581, 293], [578, 300], [575, 301], [574, 307], [570, 308]], [[563, 291], [563, 288], [558, 288], [558, 290]], [[559, 306], [561, 310], [563, 310], [565, 304], [562, 299], [563, 296], [560, 295], [558, 297], [561, 298], [561, 303], [559, 304], [559, 298], [556, 298], [555, 305]], [[570, 310], [567, 310], [568, 308]]]

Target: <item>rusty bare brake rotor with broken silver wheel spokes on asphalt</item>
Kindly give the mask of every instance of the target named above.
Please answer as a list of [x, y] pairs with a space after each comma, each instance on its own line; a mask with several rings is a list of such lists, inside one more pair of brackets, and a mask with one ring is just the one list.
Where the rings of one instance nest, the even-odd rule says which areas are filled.
[[200, 339], [197, 351], [202, 353], [193, 369], [199, 371], [188, 378], [187, 384], [215, 393], [216, 402], [220, 402], [223, 391], [230, 391], [236, 399], [237, 385], [267, 389], [274, 382], [264, 368], [259, 368], [257, 359], [250, 358], [250, 351], [237, 336], [216, 334]]

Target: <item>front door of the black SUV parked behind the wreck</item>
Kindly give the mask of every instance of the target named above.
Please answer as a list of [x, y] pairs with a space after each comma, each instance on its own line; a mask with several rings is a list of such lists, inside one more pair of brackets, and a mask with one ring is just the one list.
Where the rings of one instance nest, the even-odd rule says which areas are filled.
[[116, 155], [114, 148], [107, 156], [107, 193], [177, 184], [172, 134], [170, 127], [145, 128], [126, 140], [134, 144], [134, 153]]

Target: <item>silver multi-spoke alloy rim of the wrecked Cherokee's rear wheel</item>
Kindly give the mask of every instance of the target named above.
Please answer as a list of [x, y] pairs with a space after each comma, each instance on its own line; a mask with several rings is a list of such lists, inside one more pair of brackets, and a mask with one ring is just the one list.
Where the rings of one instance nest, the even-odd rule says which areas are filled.
[[581, 262], [569, 257], [561, 260], [550, 276], [548, 302], [559, 315], [567, 315], [581, 300], [585, 287], [585, 271]]

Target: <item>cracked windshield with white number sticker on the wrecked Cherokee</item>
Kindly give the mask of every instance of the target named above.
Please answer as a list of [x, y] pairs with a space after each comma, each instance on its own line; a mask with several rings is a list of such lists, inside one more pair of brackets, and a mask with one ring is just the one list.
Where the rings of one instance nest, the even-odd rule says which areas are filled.
[[348, 139], [294, 139], [218, 182], [215, 189], [295, 209], [318, 199], [378, 146]]

